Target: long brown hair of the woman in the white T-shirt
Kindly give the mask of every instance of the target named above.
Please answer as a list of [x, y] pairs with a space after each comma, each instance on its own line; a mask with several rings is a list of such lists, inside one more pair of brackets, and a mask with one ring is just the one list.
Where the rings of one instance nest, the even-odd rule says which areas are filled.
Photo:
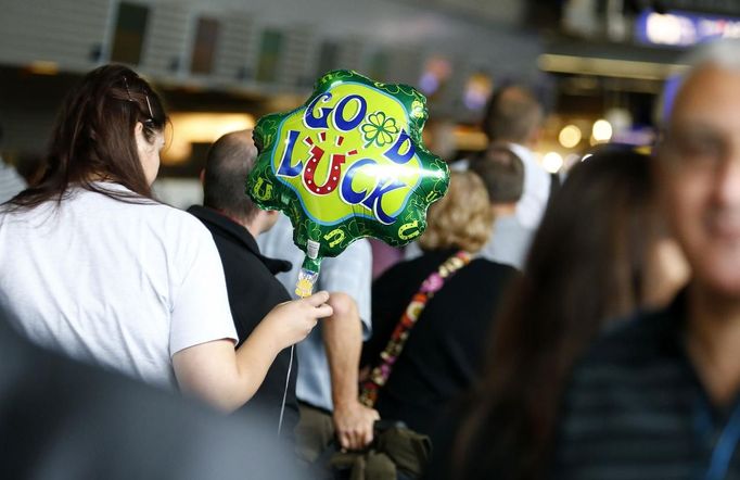
[[[167, 123], [160, 97], [144, 79], [123, 65], [88, 73], [67, 93], [58, 114], [43, 175], [10, 206], [61, 202], [75, 185], [123, 201], [151, 199], [133, 134], [138, 122], [150, 142]], [[100, 188], [95, 179], [118, 182], [135, 195]]]

